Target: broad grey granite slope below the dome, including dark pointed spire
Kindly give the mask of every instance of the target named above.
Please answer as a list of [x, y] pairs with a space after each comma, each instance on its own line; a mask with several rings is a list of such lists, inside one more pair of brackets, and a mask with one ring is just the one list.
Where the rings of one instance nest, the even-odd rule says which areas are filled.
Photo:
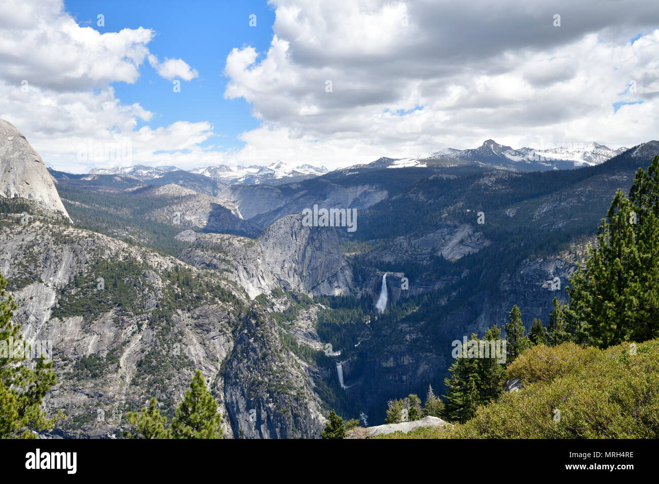
[[171, 418], [196, 369], [219, 404], [225, 437], [320, 436], [308, 365], [219, 271], [55, 219], [19, 217], [0, 230], [0, 273], [18, 305], [14, 323], [33, 345], [52, 345], [57, 385], [44, 404], [67, 415], [52, 436], [119, 436], [125, 413], [152, 396]]

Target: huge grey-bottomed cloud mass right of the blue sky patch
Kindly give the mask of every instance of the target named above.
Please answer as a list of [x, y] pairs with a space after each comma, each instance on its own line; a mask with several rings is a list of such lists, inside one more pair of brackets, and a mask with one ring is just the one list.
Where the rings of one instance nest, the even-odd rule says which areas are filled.
[[517, 148], [656, 138], [656, 3], [270, 3], [268, 51], [235, 48], [225, 65], [225, 97], [264, 121], [237, 159], [260, 157], [262, 136], [279, 159], [331, 166], [487, 138]]

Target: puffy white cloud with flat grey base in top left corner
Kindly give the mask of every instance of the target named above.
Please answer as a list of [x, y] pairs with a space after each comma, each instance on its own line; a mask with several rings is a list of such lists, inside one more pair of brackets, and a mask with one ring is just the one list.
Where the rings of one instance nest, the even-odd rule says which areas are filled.
[[39, 88], [76, 91], [139, 76], [154, 32], [146, 28], [100, 34], [80, 27], [59, 1], [0, 3], [0, 76]]

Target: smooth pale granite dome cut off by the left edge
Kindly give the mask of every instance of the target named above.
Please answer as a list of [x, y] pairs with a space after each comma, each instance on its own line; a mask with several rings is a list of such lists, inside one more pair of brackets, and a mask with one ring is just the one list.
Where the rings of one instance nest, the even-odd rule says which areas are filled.
[[42, 157], [16, 126], [4, 119], [0, 119], [0, 196], [27, 198], [69, 219]]

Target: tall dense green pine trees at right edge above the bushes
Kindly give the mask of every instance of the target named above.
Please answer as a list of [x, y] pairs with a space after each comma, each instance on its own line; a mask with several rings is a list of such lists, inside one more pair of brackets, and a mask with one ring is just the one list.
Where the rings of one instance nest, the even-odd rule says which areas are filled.
[[621, 190], [570, 279], [568, 318], [579, 340], [606, 348], [659, 336], [659, 155], [639, 169], [629, 197]]

